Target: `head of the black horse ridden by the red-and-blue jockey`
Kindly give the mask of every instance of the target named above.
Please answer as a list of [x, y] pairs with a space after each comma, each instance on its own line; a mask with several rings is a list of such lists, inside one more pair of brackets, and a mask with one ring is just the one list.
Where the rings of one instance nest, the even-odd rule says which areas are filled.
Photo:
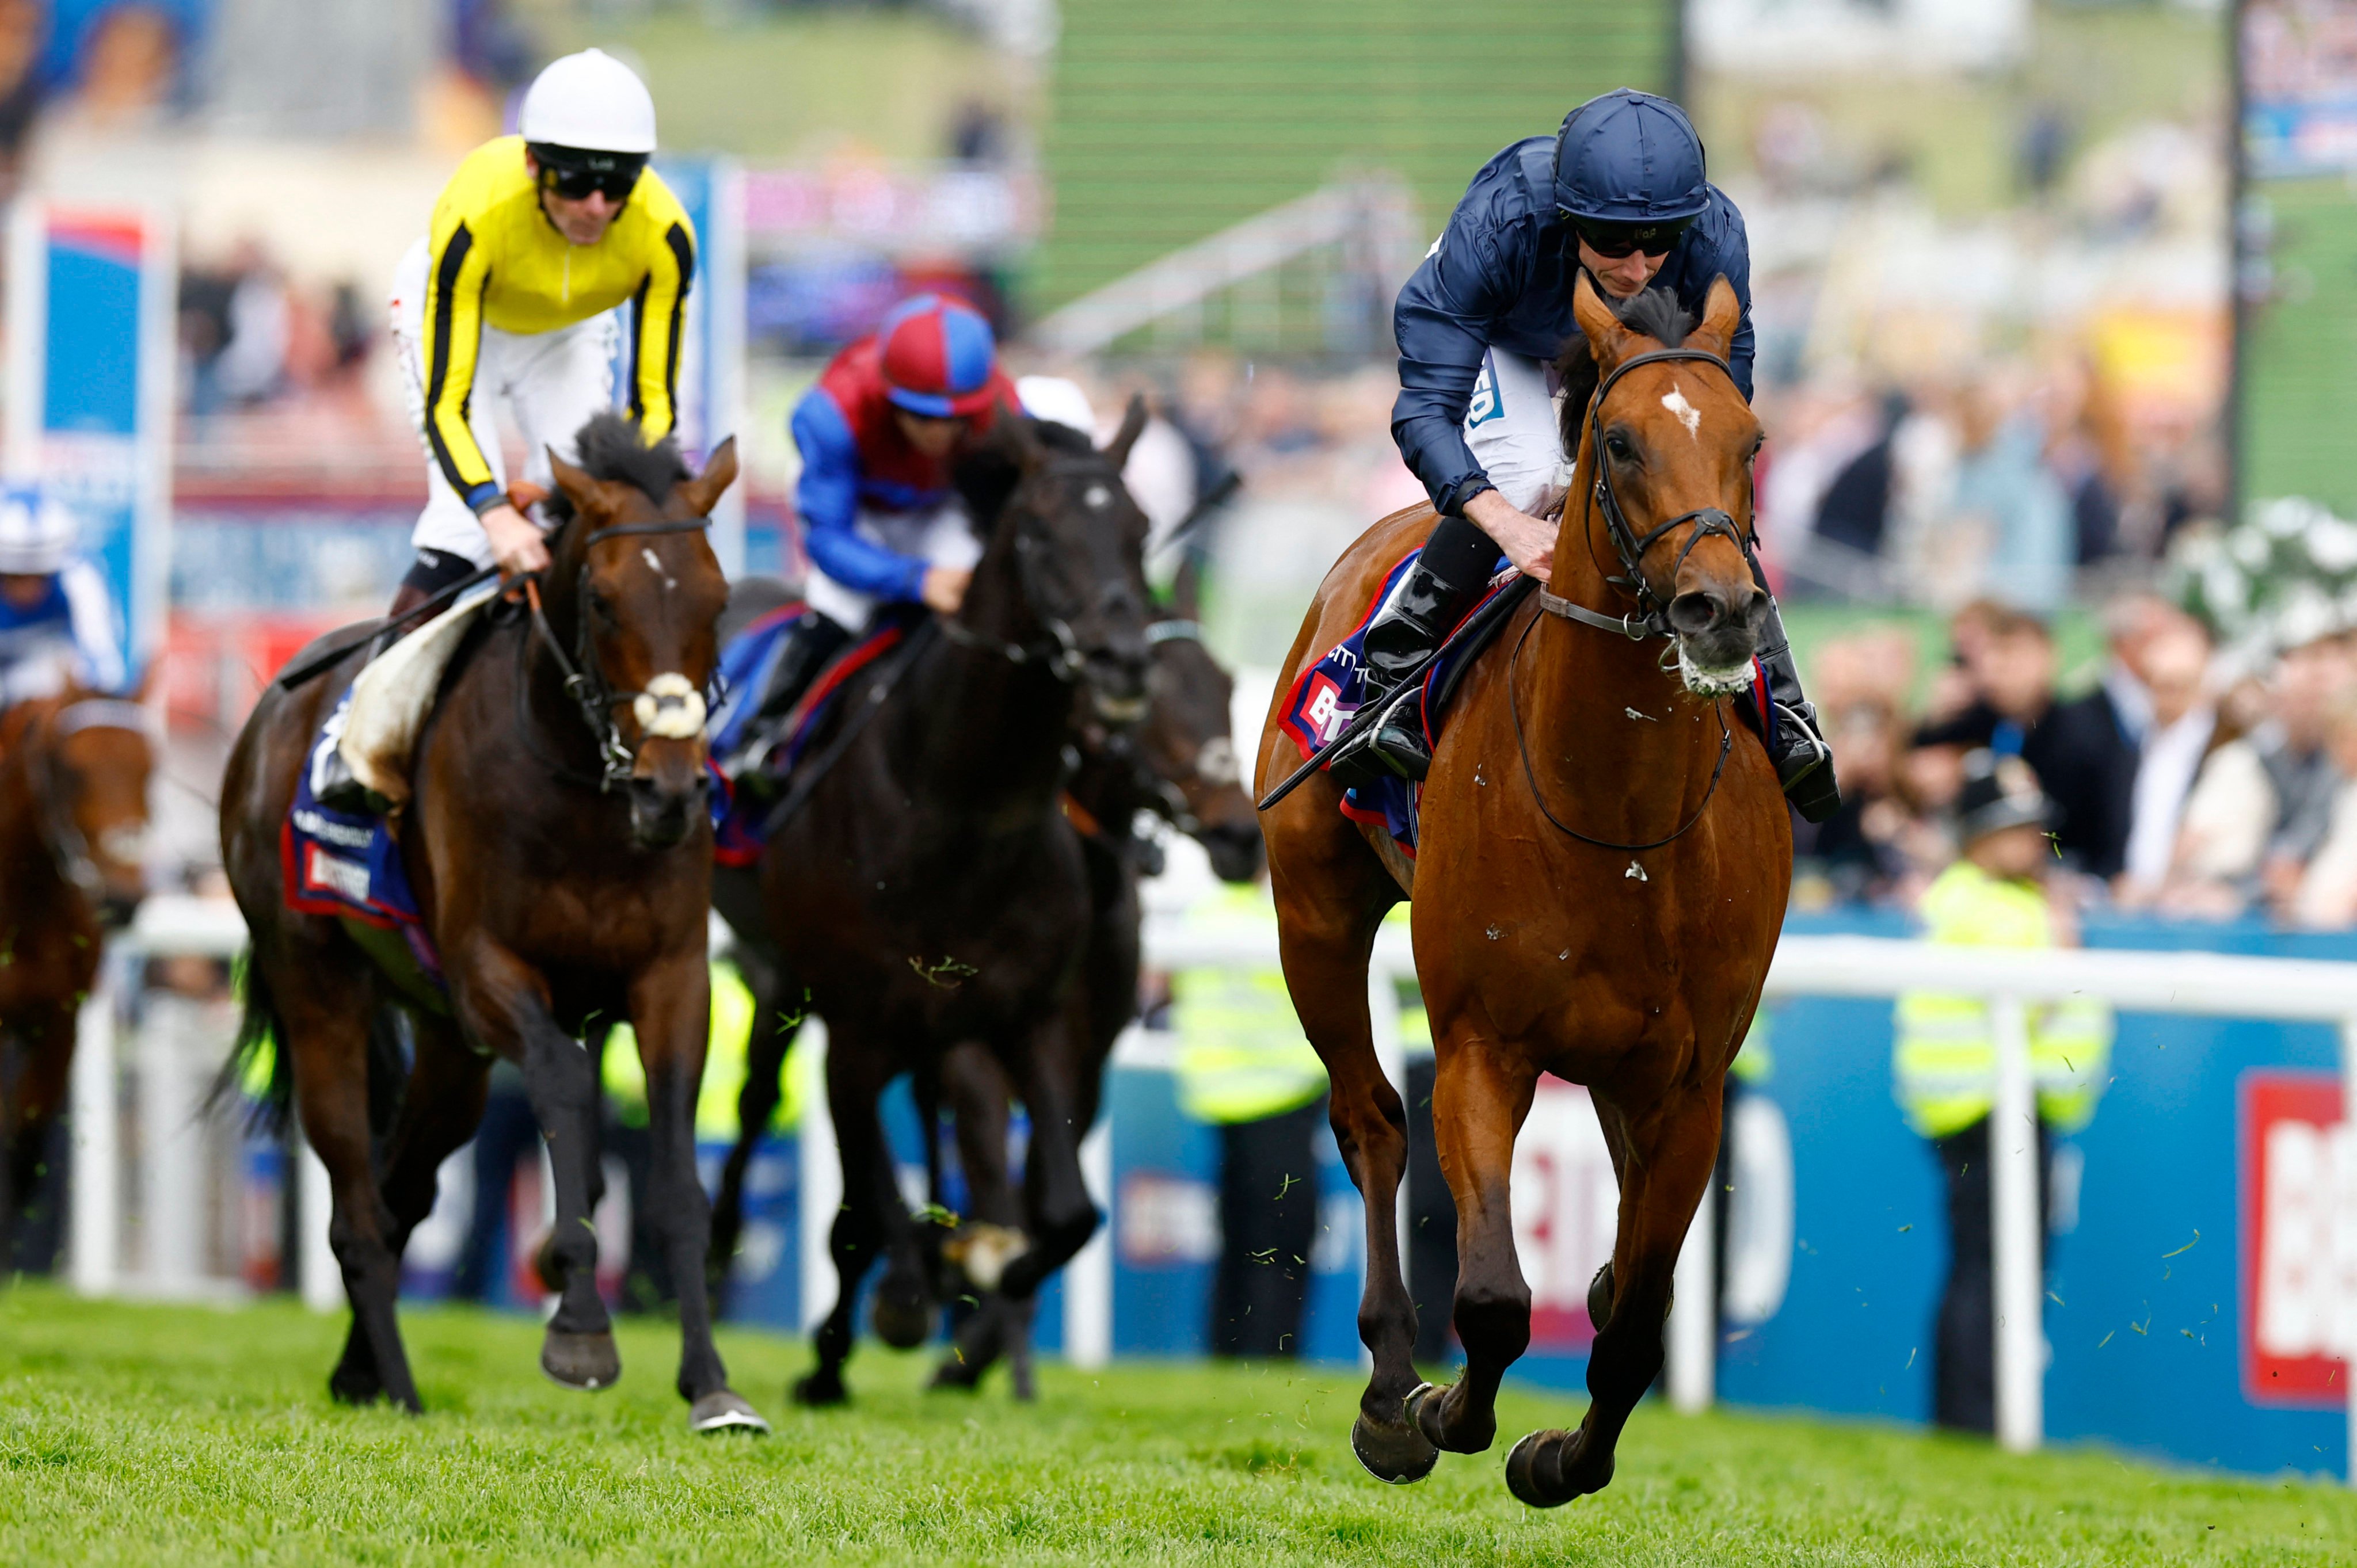
[[1077, 660], [1096, 719], [1146, 717], [1146, 514], [1122, 486], [1129, 446], [1146, 424], [1131, 403], [1122, 434], [1094, 455], [1042, 446], [1014, 427], [1021, 479], [1002, 516], [1014, 528], [1023, 597], [1035, 620]]

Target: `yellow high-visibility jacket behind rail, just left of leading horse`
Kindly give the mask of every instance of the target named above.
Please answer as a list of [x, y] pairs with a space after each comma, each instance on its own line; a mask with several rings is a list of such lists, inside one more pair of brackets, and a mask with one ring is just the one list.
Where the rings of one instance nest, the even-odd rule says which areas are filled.
[[[1275, 948], [1277, 913], [1266, 887], [1223, 887], [1188, 910], [1197, 929], [1263, 931]], [[1259, 1122], [1313, 1103], [1325, 1063], [1301, 1035], [1277, 964], [1181, 969], [1171, 976], [1178, 1026], [1178, 1108], [1197, 1122]]]

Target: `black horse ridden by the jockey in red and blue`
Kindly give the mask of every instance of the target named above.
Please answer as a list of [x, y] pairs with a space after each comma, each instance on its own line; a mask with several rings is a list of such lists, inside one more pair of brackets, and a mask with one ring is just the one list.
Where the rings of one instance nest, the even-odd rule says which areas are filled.
[[[827, 1021], [844, 1205], [830, 1236], [834, 1309], [818, 1365], [794, 1384], [806, 1405], [846, 1398], [853, 1309], [877, 1257], [896, 1259], [877, 1332], [905, 1349], [931, 1330], [933, 1264], [877, 1111], [893, 1078], [981, 1040], [1032, 1108], [1039, 1231], [1006, 1266], [1009, 1297], [1030, 1297], [1096, 1231], [1080, 1177], [1080, 1068], [1056, 1028], [1089, 927], [1087, 861], [1061, 802], [1075, 707], [1115, 726], [1146, 710], [1146, 516], [1122, 488], [1143, 424], [1131, 401], [1096, 450], [1061, 424], [999, 415], [957, 465], [985, 535], [964, 606], [919, 622], [891, 700], [811, 783], [752, 875], [714, 884], [761, 1002], [742, 1127], [768, 1120], [754, 1101], [775, 1094], [804, 1000]], [[858, 712], [865, 679], [844, 686], [839, 712]], [[717, 1250], [714, 1266], [726, 1257]]]

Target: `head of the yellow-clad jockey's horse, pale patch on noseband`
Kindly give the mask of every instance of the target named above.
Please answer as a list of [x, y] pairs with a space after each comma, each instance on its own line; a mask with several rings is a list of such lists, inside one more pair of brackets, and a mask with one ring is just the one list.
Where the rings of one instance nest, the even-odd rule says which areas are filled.
[[[573, 481], [568, 481], [568, 474]], [[613, 726], [632, 755], [629, 832], [641, 849], [669, 849], [705, 813], [705, 691], [719, 663], [717, 622], [728, 578], [695, 526], [735, 479], [735, 441], [662, 505], [629, 483], [596, 481], [566, 465], [556, 481], [587, 542], [559, 571], [580, 573], [582, 644], [613, 700]], [[596, 538], [601, 531], [608, 538]], [[573, 564], [577, 561], [577, 566]]]

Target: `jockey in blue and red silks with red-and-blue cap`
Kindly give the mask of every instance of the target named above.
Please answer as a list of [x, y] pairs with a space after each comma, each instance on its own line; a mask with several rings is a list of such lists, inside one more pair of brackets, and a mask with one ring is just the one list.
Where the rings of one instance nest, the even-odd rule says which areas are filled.
[[950, 465], [1016, 406], [997, 340], [973, 309], [917, 295], [837, 354], [801, 403], [794, 509], [808, 613], [780, 653], [761, 714], [787, 712], [811, 677], [889, 604], [955, 615], [983, 542]]

